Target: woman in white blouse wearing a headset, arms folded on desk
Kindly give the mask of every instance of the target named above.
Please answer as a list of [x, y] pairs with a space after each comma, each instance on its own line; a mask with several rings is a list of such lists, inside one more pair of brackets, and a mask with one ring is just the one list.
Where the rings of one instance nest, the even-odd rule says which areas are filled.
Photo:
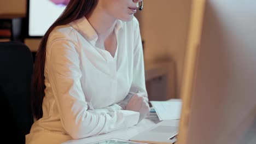
[[149, 112], [141, 0], [73, 0], [40, 44], [26, 143], [61, 143], [136, 125]]

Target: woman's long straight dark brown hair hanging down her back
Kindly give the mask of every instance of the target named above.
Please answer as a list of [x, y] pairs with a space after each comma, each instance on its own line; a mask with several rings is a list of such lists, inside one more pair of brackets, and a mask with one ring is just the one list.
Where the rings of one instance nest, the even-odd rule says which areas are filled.
[[46, 55], [46, 43], [49, 34], [57, 26], [66, 25], [74, 20], [89, 14], [90, 11], [96, 5], [97, 0], [71, 0], [61, 16], [50, 26], [48, 31], [44, 34], [42, 41], [40, 42], [39, 49], [36, 54], [34, 62], [34, 73], [32, 79], [32, 95], [31, 105], [32, 112], [36, 119], [43, 117], [43, 98], [44, 98], [44, 63]]

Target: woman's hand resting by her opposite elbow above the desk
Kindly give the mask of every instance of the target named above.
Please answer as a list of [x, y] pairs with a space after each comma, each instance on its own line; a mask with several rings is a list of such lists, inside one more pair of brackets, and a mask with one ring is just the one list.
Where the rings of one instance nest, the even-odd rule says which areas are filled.
[[139, 122], [145, 118], [150, 111], [146, 93], [134, 94], [126, 105], [126, 110], [139, 112]]

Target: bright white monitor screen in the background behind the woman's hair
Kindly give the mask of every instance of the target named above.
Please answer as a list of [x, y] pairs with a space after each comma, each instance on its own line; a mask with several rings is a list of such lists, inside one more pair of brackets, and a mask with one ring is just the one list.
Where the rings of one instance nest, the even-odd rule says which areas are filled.
[[28, 36], [43, 37], [48, 28], [61, 15], [69, 0], [30, 0]]

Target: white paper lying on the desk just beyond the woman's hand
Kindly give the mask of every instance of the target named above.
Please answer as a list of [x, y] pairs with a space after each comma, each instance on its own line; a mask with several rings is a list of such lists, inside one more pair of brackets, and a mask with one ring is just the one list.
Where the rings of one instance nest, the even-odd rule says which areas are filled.
[[168, 101], [150, 101], [160, 121], [166, 119], [179, 119], [181, 117], [181, 99]]

